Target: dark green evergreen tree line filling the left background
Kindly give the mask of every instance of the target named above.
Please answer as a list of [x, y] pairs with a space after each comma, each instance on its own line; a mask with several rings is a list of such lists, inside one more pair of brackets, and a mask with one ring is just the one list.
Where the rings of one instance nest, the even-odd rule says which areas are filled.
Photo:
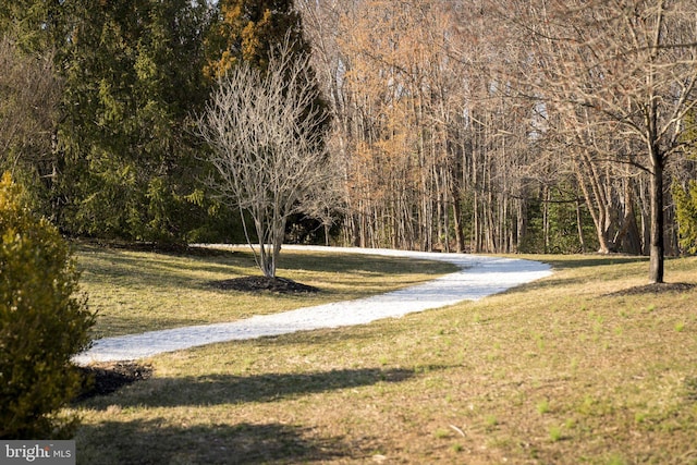
[[68, 235], [241, 240], [203, 182], [196, 118], [235, 63], [262, 69], [289, 33], [306, 46], [292, 2], [5, 3], [0, 168], [35, 209]]

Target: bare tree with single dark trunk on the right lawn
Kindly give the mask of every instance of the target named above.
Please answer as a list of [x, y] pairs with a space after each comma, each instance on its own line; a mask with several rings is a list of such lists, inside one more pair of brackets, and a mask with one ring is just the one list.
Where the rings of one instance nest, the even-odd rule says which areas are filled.
[[543, 70], [538, 95], [566, 115], [570, 140], [596, 160], [648, 173], [651, 282], [663, 282], [664, 169], [684, 150], [685, 117], [697, 103], [696, 8], [694, 0], [506, 7], [518, 29], [533, 37]]

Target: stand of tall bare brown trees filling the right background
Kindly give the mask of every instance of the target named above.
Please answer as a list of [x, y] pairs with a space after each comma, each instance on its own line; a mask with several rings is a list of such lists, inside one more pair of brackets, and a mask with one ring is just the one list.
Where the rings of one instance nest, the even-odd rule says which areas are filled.
[[645, 254], [658, 282], [694, 249], [694, 1], [298, 5], [346, 242]]

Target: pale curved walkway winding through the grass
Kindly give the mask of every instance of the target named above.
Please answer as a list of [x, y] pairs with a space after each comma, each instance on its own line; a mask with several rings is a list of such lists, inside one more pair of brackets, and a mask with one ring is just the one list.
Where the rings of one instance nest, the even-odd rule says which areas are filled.
[[334, 302], [225, 323], [105, 338], [95, 341], [89, 351], [75, 356], [74, 360], [78, 364], [132, 360], [217, 342], [364, 325], [462, 301], [477, 301], [551, 274], [549, 265], [516, 258], [344, 247], [284, 248], [440, 260], [456, 265], [460, 271], [424, 284], [356, 301]]

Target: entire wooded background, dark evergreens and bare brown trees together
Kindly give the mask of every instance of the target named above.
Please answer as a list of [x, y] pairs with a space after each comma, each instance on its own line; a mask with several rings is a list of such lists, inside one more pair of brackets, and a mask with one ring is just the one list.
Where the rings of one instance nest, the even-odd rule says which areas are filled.
[[694, 244], [693, 0], [22, 4], [0, 9], [1, 168], [65, 234], [244, 240], [195, 122], [291, 37], [338, 180], [294, 237], [644, 254], [653, 282]]

